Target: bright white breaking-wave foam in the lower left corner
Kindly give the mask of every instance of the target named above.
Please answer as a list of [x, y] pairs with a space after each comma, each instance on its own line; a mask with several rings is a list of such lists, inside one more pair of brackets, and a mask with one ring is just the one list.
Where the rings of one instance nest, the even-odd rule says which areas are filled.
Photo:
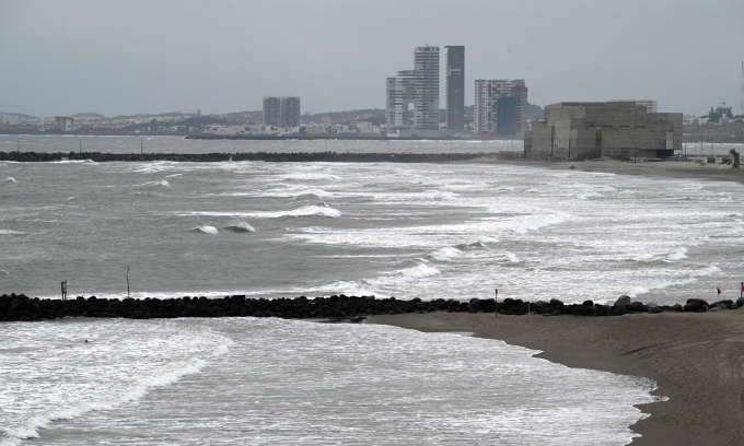
[[141, 399], [226, 353], [228, 338], [178, 322], [65, 320], [0, 327], [0, 444]]

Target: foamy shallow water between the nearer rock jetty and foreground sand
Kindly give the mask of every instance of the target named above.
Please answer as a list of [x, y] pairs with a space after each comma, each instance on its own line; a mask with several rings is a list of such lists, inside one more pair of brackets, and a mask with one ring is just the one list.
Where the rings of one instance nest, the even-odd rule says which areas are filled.
[[624, 445], [643, 416], [632, 404], [654, 400], [644, 379], [386, 326], [80, 319], [0, 330], [13, 349], [2, 352], [1, 445]]

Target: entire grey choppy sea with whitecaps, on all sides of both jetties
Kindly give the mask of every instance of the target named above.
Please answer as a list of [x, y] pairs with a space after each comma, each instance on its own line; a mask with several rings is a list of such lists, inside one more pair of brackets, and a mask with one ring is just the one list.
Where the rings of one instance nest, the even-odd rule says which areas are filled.
[[[519, 141], [0, 137], [0, 150], [484, 152]], [[328, 144], [328, 145], [326, 145]], [[0, 293], [739, 297], [744, 186], [503, 164], [0, 163]], [[127, 283], [128, 281], [128, 283]], [[0, 325], [0, 445], [624, 445], [646, 379], [446, 333]], [[84, 342], [88, 340], [88, 342]], [[612, 391], [608, 391], [612, 389]]]

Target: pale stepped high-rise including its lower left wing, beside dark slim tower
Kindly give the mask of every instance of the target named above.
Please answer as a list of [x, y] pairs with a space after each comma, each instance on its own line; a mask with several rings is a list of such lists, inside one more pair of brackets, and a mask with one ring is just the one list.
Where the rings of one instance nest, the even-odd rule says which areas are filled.
[[414, 69], [387, 78], [386, 93], [388, 128], [439, 129], [439, 47], [416, 47]]

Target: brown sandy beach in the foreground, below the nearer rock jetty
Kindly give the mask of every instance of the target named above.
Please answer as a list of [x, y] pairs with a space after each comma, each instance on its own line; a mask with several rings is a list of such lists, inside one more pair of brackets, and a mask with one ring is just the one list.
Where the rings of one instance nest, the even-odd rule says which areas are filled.
[[570, 367], [651, 378], [653, 395], [669, 400], [639, 407], [650, 416], [631, 427], [642, 435], [633, 446], [744, 443], [744, 310], [596, 318], [435, 312], [370, 322], [473, 332]]

